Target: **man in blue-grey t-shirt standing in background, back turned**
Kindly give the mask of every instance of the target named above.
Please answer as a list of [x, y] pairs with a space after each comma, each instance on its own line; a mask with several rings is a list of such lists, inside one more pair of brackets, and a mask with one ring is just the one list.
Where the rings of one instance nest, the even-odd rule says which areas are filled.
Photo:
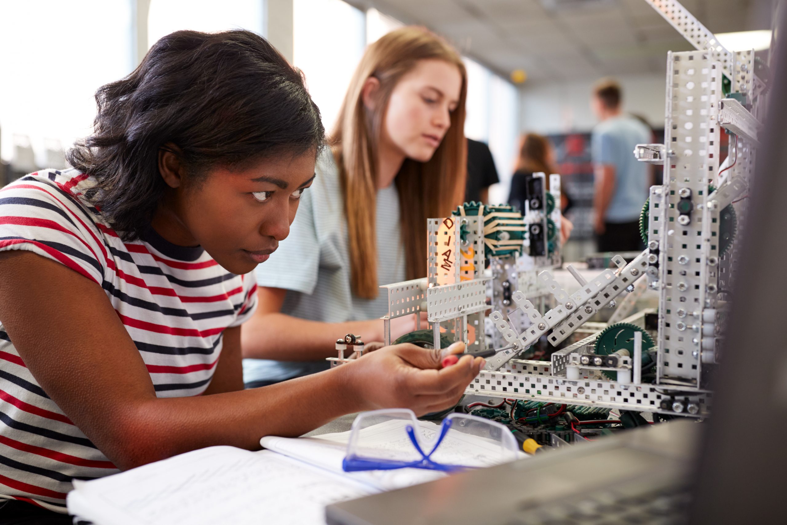
[[602, 79], [594, 87], [590, 102], [601, 121], [591, 137], [593, 229], [600, 252], [644, 249], [639, 215], [651, 181], [649, 166], [634, 158], [634, 146], [652, 142], [652, 132], [641, 120], [623, 113], [621, 96], [615, 80]]

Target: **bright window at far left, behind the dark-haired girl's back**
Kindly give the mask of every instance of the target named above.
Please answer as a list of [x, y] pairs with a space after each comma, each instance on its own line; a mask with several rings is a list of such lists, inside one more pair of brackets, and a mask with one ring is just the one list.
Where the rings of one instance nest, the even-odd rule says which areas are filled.
[[131, 0], [0, 2], [0, 155], [13, 168], [65, 166], [96, 89], [131, 72], [131, 19]]

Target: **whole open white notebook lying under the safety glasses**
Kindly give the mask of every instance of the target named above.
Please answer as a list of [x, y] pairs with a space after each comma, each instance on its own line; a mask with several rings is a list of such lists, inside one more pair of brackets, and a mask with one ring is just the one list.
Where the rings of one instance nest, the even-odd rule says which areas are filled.
[[[439, 428], [419, 423], [427, 438]], [[401, 438], [403, 424], [387, 421], [365, 430], [390, 445]], [[418, 468], [342, 471], [348, 439], [349, 431], [268, 436], [260, 440], [265, 450], [259, 452], [212, 446], [102, 479], [75, 480], [68, 512], [96, 525], [322, 525], [326, 505], [445, 475]], [[477, 456], [484, 445], [471, 440], [452, 453]]]

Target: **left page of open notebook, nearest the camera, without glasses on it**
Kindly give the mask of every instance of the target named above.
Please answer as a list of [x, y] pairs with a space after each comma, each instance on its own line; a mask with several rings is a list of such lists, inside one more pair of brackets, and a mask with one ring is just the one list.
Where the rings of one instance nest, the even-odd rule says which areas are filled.
[[326, 505], [376, 492], [270, 451], [230, 446], [74, 485], [68, 512], [97, 525], [323, 525]]

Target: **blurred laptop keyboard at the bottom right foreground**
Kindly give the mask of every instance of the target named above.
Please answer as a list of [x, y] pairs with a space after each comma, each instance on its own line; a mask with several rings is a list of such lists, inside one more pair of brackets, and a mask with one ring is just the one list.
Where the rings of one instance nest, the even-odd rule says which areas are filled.
[[655, 489], [652, 482], [635, 482], [571, 500], [556, 495], [556, 501], [546, 505], [531, 501], [505, 525], [680, 525], [686, 523], [689, 502], [685, 487]]

